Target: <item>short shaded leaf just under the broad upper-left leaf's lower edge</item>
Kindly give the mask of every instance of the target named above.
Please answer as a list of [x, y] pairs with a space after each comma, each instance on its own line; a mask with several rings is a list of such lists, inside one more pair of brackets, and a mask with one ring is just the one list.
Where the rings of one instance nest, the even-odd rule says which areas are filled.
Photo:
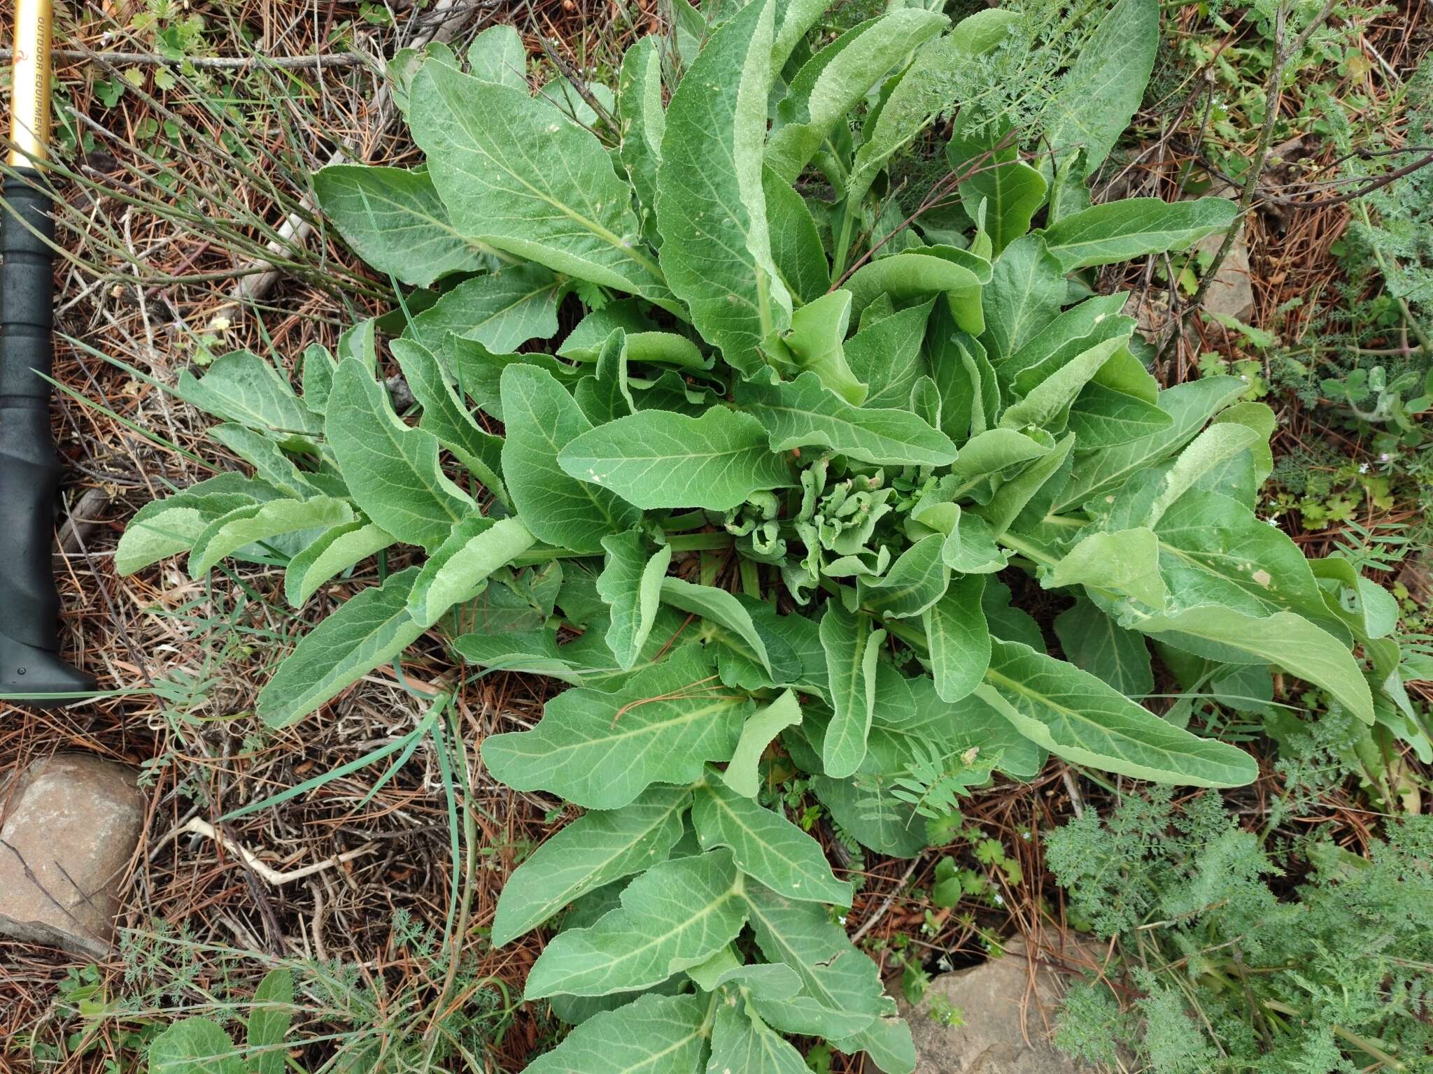
[[542, 265], [506, 265], [443, 292], [413, 318], [404, 335], [434, 354], [446, 349], [450, 332], [499, 354], [516, 351], [557, 331], [559, 294], [557, 278]]

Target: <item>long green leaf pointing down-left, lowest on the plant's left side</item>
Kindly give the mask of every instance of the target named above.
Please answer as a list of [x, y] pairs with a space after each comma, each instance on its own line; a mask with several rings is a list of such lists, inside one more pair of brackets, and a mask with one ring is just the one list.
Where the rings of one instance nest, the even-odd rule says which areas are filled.
[[271, 727], [297, 723], [423, 634], [408, 614], [417, 567], [350, 597], [304, 634], [259, 690], [257, 712]]

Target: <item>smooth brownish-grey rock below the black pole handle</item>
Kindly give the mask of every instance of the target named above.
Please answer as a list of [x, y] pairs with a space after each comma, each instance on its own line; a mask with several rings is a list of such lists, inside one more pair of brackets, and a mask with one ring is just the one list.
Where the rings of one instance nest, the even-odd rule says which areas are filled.
[[62, 753], [0, 789], [0, 934], [103, 958], [145, 825], [135, 770]]

